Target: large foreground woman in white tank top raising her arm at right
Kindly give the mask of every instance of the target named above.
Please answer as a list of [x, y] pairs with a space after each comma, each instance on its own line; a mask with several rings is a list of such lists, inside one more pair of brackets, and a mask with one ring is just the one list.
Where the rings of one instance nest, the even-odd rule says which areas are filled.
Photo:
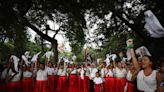
[[160, 75], [156, 70], [152, 69], [152, 58], [148, 55], [144, 55], [140, 67], [134, 53], [132, 39], [127, 41], [127, 47], [130, 49], [135, 70], [140, 70], [142, 68], [137, 75], [138, 90], [143, 92], [158, 92], [157, 88], [160, 86]]

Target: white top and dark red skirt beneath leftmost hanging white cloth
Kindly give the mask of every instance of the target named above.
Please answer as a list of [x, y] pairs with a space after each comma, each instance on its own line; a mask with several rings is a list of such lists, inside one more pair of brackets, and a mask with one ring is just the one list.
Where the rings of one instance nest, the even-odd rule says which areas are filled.
[[21, 70], [19, 70], [17, 73], [12, 72], [12, 70], [9, 70], [9, 76], [13, 76], [11, 79], [8, 87], [9, 92], [22, 92], [22, 86], [21, 86]]

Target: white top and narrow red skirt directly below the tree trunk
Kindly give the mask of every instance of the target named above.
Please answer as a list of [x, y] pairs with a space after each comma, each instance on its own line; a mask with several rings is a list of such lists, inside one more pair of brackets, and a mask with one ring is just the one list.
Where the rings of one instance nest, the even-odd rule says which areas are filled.
[[55, 92], [55, 78], [54, 78], [54, 68], [51, 67], [47, 67], [46, 68], [47, 72], [48, 72], [48, 88], [50, 92]]

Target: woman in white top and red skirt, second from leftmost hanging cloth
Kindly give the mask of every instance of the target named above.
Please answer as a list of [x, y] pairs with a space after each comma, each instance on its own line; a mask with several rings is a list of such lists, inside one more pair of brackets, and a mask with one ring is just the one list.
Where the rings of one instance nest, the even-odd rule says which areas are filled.
[[23, 87], [23, 92], [32, 92], [33, 91], [33, 73], [30, 70], [31, 66], [30, 65], [23, 65], [23, 80], [22, 80], [22, 87]]

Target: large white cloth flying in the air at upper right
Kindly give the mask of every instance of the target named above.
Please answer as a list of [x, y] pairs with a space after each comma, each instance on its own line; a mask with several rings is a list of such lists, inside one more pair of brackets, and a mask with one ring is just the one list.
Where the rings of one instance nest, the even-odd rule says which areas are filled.
[[160, 38], [164, 37], [164, 28], [153, 14], [151, 10], [147, 10], [145, 15], [145, 29], [150, 33], [151, 37]]

